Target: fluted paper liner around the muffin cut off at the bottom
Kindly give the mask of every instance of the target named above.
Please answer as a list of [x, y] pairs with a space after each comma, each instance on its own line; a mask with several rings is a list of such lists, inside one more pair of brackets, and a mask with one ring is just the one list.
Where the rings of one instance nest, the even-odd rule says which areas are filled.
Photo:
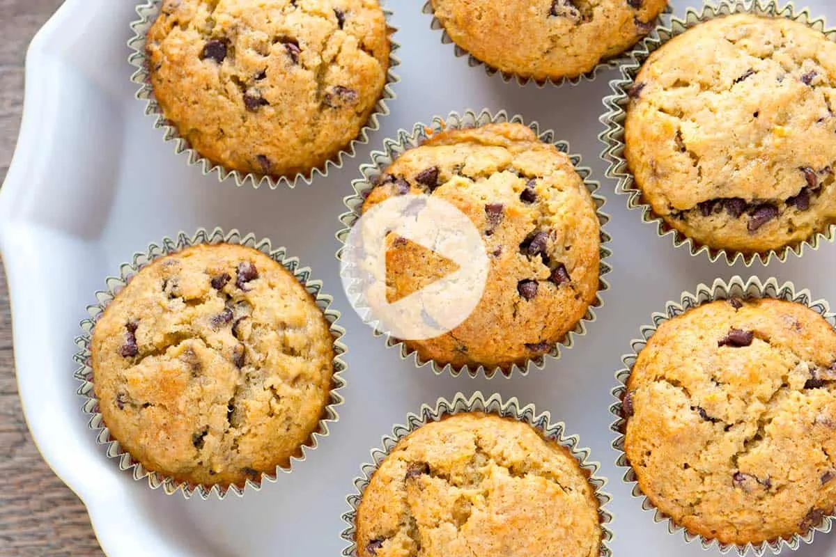
[[603, 530], [600, 555], [601, 557], [612, 557], [613, 552], [609, 548], [609, 542], [613, 539], [613, 533], [609, 529], [608, 524], [612, 522], [613, 515], [605, 509], [612, 497], [604, 492], [607, 479], [595, 476], [598, 473], [600, 464], [588, 461], [589, 448], [580, 448], [578, 446], [579, 438], [577, 435], [565, 435], [565, 424], [563, 422], [552, 423], [551, 414], [548, 412], [538, 414], [533, 404], [522, 406], [517, 400], [517, 397], [512, 397], [507, 402], [502, 402], [502, 397], [498, 394], [485, 397], [479, 391], [475, 392], [470, 398], [458, 392], [451, 401], [442, 397], [436, 401], [435, 406], [421, 405], [421, 410], [417, 414], [410, 413], [406, 416], [405, 425], [395, 425], [392, 428], [391, 435], [386, 435], [383, 438], [381, 448], [375, 448], [371, 451], [371, 463], [364, 463], [360, 467], [361, 475], [359, 478], [354, 479], [354, 489], [356, 489], [356, 492], [350, 494], [345, 499], [346, 503], [349, 504], [350, 510], [343, 514], [343, 521], [348, 524], [348, 528], [343, 530], [342, 539], [349, 543], [343, 549], [342, 554], [344, 557], [357, 557], [357, 530], [355, 522], [360, 500], [363, 499], [363, 493], [369, 486], [372, 475], [377, 471], [380, 463], [395, 448], [398, 441], [416, 429], [421, 428], [426, 423], [438, 422], [447, 416], [466, 412], [497, 414], [503, 418], [513, 418], [519, 422], [528, 423], [528, 425], [537, 429], [539, 433], [542, 433], [545, 438], [568, 448], [572, 456], [580, 463], [581, 468], [584, 468], [589, 473], [589, 484], [592, 484], [595, 490], [595, 496], [599, 502], [599, 519]]

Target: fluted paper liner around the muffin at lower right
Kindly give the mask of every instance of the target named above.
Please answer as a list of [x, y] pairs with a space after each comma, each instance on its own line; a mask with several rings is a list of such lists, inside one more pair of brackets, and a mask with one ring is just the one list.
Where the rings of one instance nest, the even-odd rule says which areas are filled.
[[703, 549], [718, 549], [721, 553], [727, 553], [734, 550], [739, 555], [747, 554], [748, 551], [752, 551], [752, 554], [760, 557], [760, 555], [767, 554], [767, 552], [778, 554], [785, 548], [795, 550], [801, 547], [802, 544], [812, 543], [813, 535], [816, 532], [827, 534], [833, 528], [833, 521], [836, 520], [836, 516], [825, 516], [819, 524], [813, 526], [813, 528], [809, 529], [805, 534], [795, 534], [789, 539], [776, 539], [772, 541], [765, 541], [761, 544], [722, 544], [716, 539], [706, 539], [699, 534], [689, 532], [682, 526], [674, 524], [673, 520], [670, 519], [667, 514], [664, 514], [657, 509], [655, 505], [650, 502], [650, 499], [648, 499], [641, 491], [635, 471], [630, 466], [630, 460], [628, 460], [627, 454], [624, 452], [624, 433], [627, 420], [624, 418], [622, 400], [624, 399], [624, 394], [627, 392], [627, 381], [630, 378], [630, 372], [635, 365], [639, 353], [647, 345], [650, 337], [654, 335], [662, 323], [676, 316], [681, 316], [693, 307], [701, 306], [709, 301], [727, 300], [730, 298], [775, 298], [778, 300], [795, 301], [803, 304], [804, 306], [808, 306], [813, 311], [816, 311], [818, 314], [823, 316], [832, 327], [836, 327], [836, 315], [830, 311], [830, 306], [827, 301], [813, 300], [813, 297], [810, 295], [810, 291], [806, 289], [796, 290], [796, 287], [792, 282], [779, 284], [775, 278], [769, 278], [767, 281], [762, 282], [757, 278], [757, 276], [753, 276], [747, 281], [743, 281], [740, 276], [733, 276], [732, 280], [728, 282], [717, 279], [711, 286], [701, 284], [696, 287], [696, 293], [694, 294], [691, 294], [691, 292], [683, 292], [681, 295], [681, 301], [669, 301], [665, 305], [664, 313], [654, 313], [651, 316], [652, 325], [641, 327], [641, 338], [634, 339], [630, 342], [632, 352], [630, 354], [625, 354], [624, 357], [622, 357], [624, 369], [615, 374], [618, 385], [612, 390], [612, 395], [616, 402], [609, 407], [609, 412], [612, 413], [615, 418], [615, 421], [610, 426], [610, 429], [612, 429], [615, 433], [618, 433], [618, 437], [615, 438], [612, 445], [618, 453], [618, 458], [616, 459], [615, 464], [620, 468], [626, 469], [623, 478], [624, 482], [633, 485], [633, 497], [635, 499], [641, 499], [641, 508], [643, 510], [652, 511], [654, 513], [653, 519], [655, 522], [666, 522], [668, 525], [668, 532], [670, 534], [677, 534], [681, 532], [687, 543], [691, 543], [695, 539], [699, 539]]

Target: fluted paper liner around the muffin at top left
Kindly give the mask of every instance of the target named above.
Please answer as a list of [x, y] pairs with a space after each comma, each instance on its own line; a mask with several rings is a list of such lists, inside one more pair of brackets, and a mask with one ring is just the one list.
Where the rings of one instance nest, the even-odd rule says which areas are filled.
[[156, 20], [157, 14], [160, 11], [162, 0], [145, 0], [145, 3], [140, 4], [140, 6], [137, 6], [136, 8], [136, 13], [139, 14], [140, 17], [139, 20], [130, 24], [130, 28], [135, 34], [128, 41], [128, 48], [133, 51], [128, 58], [128, 62], [131, 66], [136, 68], [135, 73], [133, 73], [130, 77], [130, 80], [133, 83], [140, 86], [139, 91], [136, 93], [136, 98], [145, 100], [145, 115], [155, 116], [154, 128], [163, 130], [163, 139], [166, 142], [174, 142], [175, 154], [185, 153], [186, 164], [189, 166], [199, 165], [201, 173], [204, 176], [215, 174], [217, 175], [218, 181], [224, 181], [227, 180], [227, 178], [232, 177], [232, 179], [235, 180], [236, 185], [239, 187], [250, 183], [255, 188], [267, 185], [271, 190], [275, 190], [280, 185], [293, 188], [296, 187], [299, 181], [302, 181], [306, 185], [310, 185], [318, 175], [324, 178], [328, 175], [332, 168], [341, 169], [346, 159], [354, 158], [354, 155], [357, 154], [357, 147], [359, 145], [368, 144], [370, 134], [380, 129], [380, 117], [387, 116], [390, 113], [387, 102], [395, 100], [395, 91], [392, 89], [392, 86], [400, 82], [400, 77], [395, 73], [395, 67], [400, 65], [400, 58], [395, 56], [395, 51], [400, 48], [400, 43], [396, 43], [392, 40], [393, 35], [397, 32], [397, 28], [393, 27], [391, 23], [393, 12], [391, 9], [386, 8], [382, 0], [379, 1], [380, 7], [383, 9], [386, 19], [387, 28], [389, 30], [391, 46], [389, 54], [389, 68], [386, 71], [386, 84], [383, 91], [380, 93], [380, 99], [378, 99], [375, 109], [369, 116], [369, 120], [360, 129], [356, 138], [352, 139], [351, 142], [344, 149], [340, 150], [338, 154], [335, 154], [332, 159], [326, 161], [323, 166], [308, 170], [308, 172], [304, 174], [298, 173], [293, 176], [293, 178], [288, 178], [287, 176], [276, 178], [268, 175], [243, 173], [239, 170], [228, 170], [222, 165], [217, 165], [211, 160], [206, 159], [206, 157], [198, 153], [196, 149], [192, 149], [188, 140], [181, 137], [176, 125], [166, 119], [160, 104], [154, 96], [154, 89], [151, 86], [150, 73], [148, 71], [148, 60], [145, 54], [145, 37]]

